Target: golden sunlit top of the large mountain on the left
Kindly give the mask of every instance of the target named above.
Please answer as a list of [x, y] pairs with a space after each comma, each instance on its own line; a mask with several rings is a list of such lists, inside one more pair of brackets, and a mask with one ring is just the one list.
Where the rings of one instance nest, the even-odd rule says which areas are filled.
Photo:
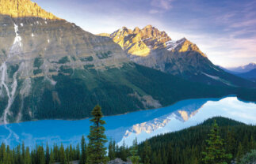
[[41, 9], [30, 0], [0, 0], [0, 14], [17, 17], [40, 17], [44, 19], [59, 20], [52, 13]]

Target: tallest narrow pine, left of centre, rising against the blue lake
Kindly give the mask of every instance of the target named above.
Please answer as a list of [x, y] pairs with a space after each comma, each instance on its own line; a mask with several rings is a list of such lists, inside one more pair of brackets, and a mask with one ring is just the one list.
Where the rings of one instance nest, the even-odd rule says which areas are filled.
[[106, 147], [105, 143], [107, 142], [105, 136], [105, 121], [101, 120], [103, 114], [101, 112], [101, 106], [95, 106], [92, 111], [93, 118], [90, 119], [93, 125], [90, 126], [90, 134], [88, 136], [88, 158], [87, 162], [89, 164], [98, 164], [106, 162]]

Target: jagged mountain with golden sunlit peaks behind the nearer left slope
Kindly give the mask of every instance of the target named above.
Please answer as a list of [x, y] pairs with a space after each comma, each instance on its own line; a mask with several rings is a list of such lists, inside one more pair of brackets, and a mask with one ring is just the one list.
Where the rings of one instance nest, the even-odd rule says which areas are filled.
[[166, 32], [160, 32], [151, 25], [134, 30], [123, 27], [109, 37], [126, 51], [128, 58], [139, 65], [204, 84], [255, 86], [213, 65], [197, 45], [188, 39], [174, 41]]

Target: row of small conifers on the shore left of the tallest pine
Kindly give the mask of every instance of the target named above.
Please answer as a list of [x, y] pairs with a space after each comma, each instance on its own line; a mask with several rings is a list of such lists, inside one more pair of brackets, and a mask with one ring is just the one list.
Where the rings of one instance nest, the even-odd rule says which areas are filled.
[[63, 144], [60, 146], [55, 144], [50, 148], [47, 144], [45, 148], [37, 145], [35, 149], [30, 150], [29, 147], [25, 147], [24, 143], [13, 149], [5, 143], [2, 143], [0, 147], [0, 164], [52, 164], [55, 162], [67, 164], [71, 161], [86, 163], [86, 158], [87, 145], [84, 136], [76, 147], [70, 145], [64, 148]]

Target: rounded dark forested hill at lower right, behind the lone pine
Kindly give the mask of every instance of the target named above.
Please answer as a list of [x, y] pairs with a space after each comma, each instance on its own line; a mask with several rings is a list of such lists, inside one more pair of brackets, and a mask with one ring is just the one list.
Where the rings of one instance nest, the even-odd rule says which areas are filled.
[[[214, 117], [201, 125], [155, 136], [147, 141], [151, 151], [148, 157], [152, 164], [197, 164], [202, 163], [202, 152], [206, 151], [208, 133], [216, 120], [220, 126], [220, 136], [224, 139], [224, 149], [239, 160], [246, 152], [256, 148], [256, 126], [245, 125], [224, 117]], [[147, 146], [147, 147], [148, 147]], [[139, 155], [143, 157], [145, 142], [139, 144]], [[143, 159], [142, 159], [143, 160]], [[230, 161], [231, 162], [231, 161]]]

